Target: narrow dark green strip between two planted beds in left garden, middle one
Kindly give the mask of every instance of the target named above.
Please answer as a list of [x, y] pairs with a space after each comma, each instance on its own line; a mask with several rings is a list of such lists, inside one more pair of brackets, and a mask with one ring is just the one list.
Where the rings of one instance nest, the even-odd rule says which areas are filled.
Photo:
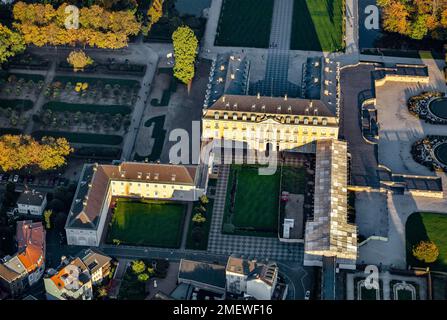
[[91, 113], [110, 113], [110, 114], [129, 114], [131, 109], [127, 106], [120, 105], [97, 105], [97, 104], [79, 104], [79, 103], [65, 103], [59, 101], [50, 101], [44, 104], [43, 109], [50, 109], [52, 111], [61, 112], [91, 112]]

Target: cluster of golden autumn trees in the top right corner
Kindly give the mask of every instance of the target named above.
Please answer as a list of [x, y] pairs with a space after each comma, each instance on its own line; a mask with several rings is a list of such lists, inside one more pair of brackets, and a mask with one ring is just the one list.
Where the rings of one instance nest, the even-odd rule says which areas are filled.
[[447, 2], [443, 0], [378, 0], [386, 31], [413, 39], [447, 39]]

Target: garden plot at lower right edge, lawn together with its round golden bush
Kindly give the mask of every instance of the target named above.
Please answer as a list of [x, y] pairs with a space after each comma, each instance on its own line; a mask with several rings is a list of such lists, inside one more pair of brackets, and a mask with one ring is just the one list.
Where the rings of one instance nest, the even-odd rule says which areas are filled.
[[447, 214], [416, 212], [405, 224], [407, 264], [447, 271]]

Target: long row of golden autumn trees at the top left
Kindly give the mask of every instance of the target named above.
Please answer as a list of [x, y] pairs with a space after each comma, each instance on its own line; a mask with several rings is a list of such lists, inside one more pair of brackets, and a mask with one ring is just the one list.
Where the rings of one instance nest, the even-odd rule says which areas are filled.
[[128, 37], [136, 35], [141, 23], [131, 10], [107, 11], [93, 5], [79, 11], [79, 28], [69, 28], [65, 22], [67, 4], [54, 9], [50, 4], [14, 5], [15, 28], [23, 34], [26, 44], [76, 45], [118, 49], [127, 46]]

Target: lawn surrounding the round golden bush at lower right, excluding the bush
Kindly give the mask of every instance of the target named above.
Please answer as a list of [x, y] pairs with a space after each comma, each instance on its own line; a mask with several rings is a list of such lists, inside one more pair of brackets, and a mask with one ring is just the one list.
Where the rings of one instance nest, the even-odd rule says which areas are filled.
[[412, 248], [423, 240], [433, 241], [439, 249], [439, 257], [429, 264], [433, 270], [447, 271], [447, 214], [416, 212], [405, 224], [407, 264], [425, 267], [426, 264], [413, 257]]

